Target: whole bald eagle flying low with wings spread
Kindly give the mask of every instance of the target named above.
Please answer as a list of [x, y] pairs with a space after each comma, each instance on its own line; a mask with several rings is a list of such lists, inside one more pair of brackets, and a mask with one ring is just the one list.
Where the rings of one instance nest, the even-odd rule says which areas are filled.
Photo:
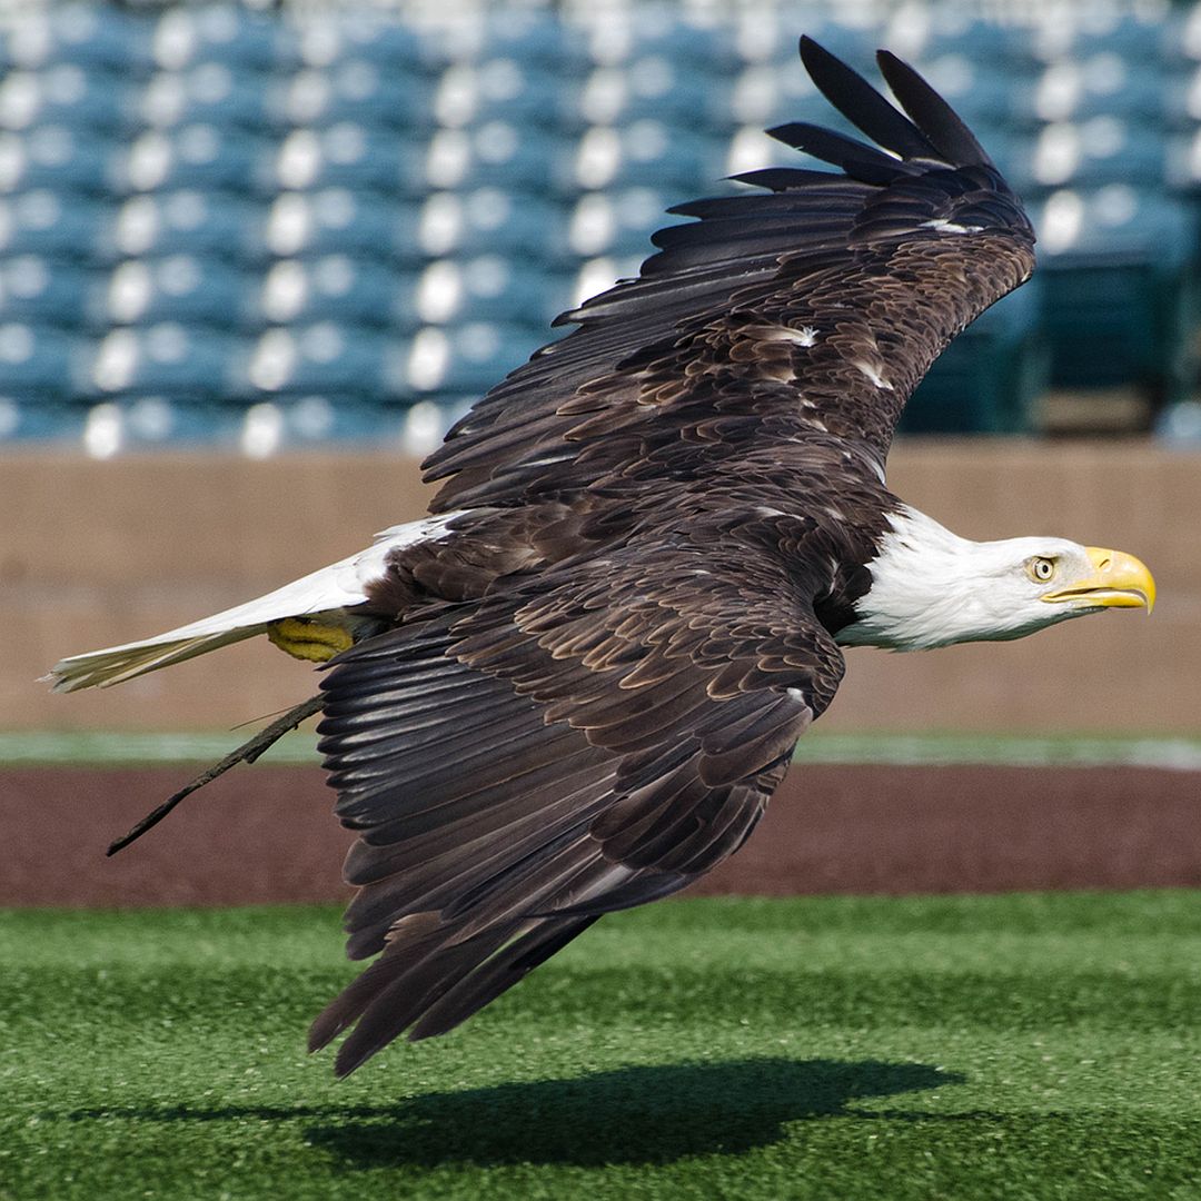
[[[328, 661], [319, 749], [358, 831], [348, 954], [317, 1017], [349, 1072], [462, 1022], [605, 913], [733, 854], [830, 704], [843, 647], [1021, 638], [1154, 602], [1130, 555], [970, 542], [889, 491], [907, 398], [1034, 267], [1021, 202], [945, 101], [901, 108], [808, 38], [870, 142], [683, 204], [638, 279], [484, 396], [425, 462], [430, 515], [157, 638], [64, 659], [72, 691], [265, 633]], [[902, 112], [903, 109], [903, 112]], [[294, 722], [293, 722], [294, 724]], [[257, 751], [258, 747], [256, 747]]]

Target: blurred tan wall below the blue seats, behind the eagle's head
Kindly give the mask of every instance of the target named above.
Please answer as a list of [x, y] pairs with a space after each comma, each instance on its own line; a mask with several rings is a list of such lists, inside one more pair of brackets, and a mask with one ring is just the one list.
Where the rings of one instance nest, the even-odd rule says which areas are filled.
[[[1201, 733], [1201, 454], [1143, 442], [898, 444], [890, 485], [960, 533], [1056, 533], [1139, 555], [1154, 617], [1032, 639], [848, 653], [827, 730]], [[0, 459], [0, 729], [227, 729], [310, 694], [264, 639], [118, 688], [50, 695], [64, 655], [183, 625], [364, 546], [429, 492], [394, 455]]]

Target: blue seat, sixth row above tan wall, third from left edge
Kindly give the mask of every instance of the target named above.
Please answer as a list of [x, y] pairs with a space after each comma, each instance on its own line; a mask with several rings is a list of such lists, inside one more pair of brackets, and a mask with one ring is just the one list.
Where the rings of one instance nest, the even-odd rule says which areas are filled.
[[434, 124], [435, 86], [424, 74], [348, 58], [277, 77], [265, 100], [271, 120], [282, 126], [351, 123], [412, 133]]

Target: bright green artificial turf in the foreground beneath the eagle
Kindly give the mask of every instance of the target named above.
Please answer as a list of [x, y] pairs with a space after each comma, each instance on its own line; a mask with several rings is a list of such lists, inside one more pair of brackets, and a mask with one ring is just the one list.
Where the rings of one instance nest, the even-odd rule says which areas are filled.
[[1201, 895], [680, 901], [336, 1082], [328, 908], [0, 913], [4, 1199], [1201, 1196]]

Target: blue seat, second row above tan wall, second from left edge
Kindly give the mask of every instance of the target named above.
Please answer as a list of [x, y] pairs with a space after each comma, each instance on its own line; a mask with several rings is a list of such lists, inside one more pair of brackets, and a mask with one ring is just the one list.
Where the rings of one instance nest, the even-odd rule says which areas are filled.
[[110, 330], [96, 343], [80, 389], [90, 396], [235, 394], [240, 341], [232, 334], [178, 322]]

